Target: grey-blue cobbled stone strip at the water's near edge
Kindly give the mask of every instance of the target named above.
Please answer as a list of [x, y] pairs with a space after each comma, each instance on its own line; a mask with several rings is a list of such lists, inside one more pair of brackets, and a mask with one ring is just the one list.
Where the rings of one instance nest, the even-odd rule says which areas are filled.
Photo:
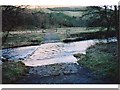
[[37, 74], [43, 76], [56, 76], [78, 72], [78, 65], [76, 63], [59, 63], [51, 65], [43, 65], [31, 67], [29, 74]]

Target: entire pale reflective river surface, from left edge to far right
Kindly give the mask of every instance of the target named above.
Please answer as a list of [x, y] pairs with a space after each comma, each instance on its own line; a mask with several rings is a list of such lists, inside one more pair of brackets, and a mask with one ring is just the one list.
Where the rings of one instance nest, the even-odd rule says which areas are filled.
[[[100, 40], [106, 43], [106, 40]], [[54, 63], [76, 63], [75, 53], [86, 53], [86, 49], [95, 43], [97, 39], [71, 43], [45, 43], [40, 46], [27, 46], [15, 49], [4, 49], [3, 56], [12, 60], [24, 59], [27, 66], [41, 66]], [[109, 39], [116, 41], [116, 39]]]

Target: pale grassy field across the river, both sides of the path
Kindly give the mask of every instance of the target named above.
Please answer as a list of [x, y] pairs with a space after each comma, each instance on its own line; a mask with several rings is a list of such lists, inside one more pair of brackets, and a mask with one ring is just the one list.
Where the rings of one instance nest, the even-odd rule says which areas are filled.
[[[57, 32], [56, 32], [57, 30]], [[42, 33], [44, 31], [44, 33]], [[72, 27], [72, 28], [51, 28], [51, 29], [34, 29], [25, 31], [11, 31], [6, 43], [3, 44], [3, 48], [7, 47], [17, 47], [17, 46], [27, 46], [27, 45], [38, 45], [43, 43], [45, 33], [53, 32], [56, 33], [60, 40], [69, 38], [71, 34], [96, 32], [99, 28], [87, 30], [84, 27]]]

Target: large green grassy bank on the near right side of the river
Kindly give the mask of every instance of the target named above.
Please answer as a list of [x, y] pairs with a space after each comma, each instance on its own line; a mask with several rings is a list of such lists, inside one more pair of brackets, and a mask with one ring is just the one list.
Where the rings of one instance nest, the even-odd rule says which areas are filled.
[[85, 57], [81, 54], [74, 56], [78, 58], [79, 64], [88, 67], [101, 77], [110, 77], [117, 80], [118, 60], [116, 50], [116, 43], [100, 43], [88, 48]]

